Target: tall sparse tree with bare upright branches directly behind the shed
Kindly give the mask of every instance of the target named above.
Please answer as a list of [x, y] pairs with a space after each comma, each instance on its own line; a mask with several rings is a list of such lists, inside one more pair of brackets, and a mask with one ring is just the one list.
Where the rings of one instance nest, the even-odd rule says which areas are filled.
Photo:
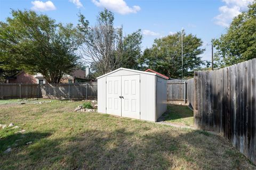
[[114, 27], [114, 14], [106, 9], [99, 13], [94, 27], [89, 24], [85, 16], [79, 14], [78, 29], [83, 38], [81, 53], [97, 74], [138, 65], [142, 39], [140, 30], [123, 37], [123, 27]]

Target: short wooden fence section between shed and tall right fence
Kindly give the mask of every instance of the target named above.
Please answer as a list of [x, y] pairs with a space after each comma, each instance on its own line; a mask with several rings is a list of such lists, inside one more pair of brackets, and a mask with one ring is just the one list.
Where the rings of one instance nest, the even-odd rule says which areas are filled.
[[193, 96], [194, 79], [167, 80], [167, 103], [191, 104], [193, 106]]

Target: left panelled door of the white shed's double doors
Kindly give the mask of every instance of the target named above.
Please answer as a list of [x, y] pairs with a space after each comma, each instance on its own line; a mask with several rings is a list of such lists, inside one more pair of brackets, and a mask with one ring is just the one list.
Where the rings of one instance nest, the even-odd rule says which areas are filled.
[[107, 113], [121, 116], [121, 77], [107, 77]]

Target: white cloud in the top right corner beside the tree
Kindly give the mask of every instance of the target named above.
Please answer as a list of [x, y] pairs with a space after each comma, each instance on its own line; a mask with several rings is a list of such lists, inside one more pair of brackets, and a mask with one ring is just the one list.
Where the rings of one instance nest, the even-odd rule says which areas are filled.
[[215, 24], [228, 27], [232, 19], [242, 11], [247, 10], [247, 6], [253, 0], [222, 0], [226, 5], [219, 7], [220, 14], [214, 17]]

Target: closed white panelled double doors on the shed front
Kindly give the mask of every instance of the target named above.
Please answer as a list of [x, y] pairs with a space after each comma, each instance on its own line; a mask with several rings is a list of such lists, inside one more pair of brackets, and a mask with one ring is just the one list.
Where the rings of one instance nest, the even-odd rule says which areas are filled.
[[107, 77], [107, 113], [140, 118], [140, 75]]

